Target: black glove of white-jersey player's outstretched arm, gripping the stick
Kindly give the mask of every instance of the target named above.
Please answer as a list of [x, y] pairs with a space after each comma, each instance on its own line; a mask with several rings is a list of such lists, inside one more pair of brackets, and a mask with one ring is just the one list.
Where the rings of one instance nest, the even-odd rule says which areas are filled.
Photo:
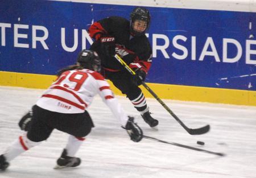
[[131, 140], [133, 142], [139, 142], [143, 138], [143, 132], [141, 130], [141, 127], [137, 125], [137, 123], [134, 123], [134, 117], [130, 117], [126, 123], [126, 126], [123, 127], [123, 129], [126, 129], [128, 135], [130, 136]]

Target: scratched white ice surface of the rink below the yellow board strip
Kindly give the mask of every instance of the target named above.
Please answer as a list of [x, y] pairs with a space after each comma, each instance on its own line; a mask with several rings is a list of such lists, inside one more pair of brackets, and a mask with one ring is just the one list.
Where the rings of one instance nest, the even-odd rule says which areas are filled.
[[[0, 87], [0, 152], [22, 134], [17, 122], [43, 90]], [[108, 107], [96, 97], [89, 112], [96, 127], [77, 153], [80, 167], [55, 170], [67, 134], [53, 131], [47, 142], [34, 147], [11, 162], [1, 178], [63, 177], [256, 177], [256, 107], [164, 100], [189, 127], [210, 124], [204, 135], [189, 135], [155, 99], [148, 99], [152, 114], [160, 121], [159, 131], [146, 125], [125, 97], [118, 97], [125, 110], [137, 118], [144, 135], [226, 156], [207, 154], [171, 144], [143, 139], [129, 140]], [[197, 140], [205, 146], [197, 145]]]

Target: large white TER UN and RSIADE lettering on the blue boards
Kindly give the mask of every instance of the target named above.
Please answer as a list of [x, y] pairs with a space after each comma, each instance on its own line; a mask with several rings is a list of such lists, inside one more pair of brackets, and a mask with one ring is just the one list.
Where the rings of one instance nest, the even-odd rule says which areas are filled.
[[[60, 39], [55, 39], [54, 41], [56, 44], [51, 45], [47, 43], [50, 32], [48, 28], [44, 26], [0, 23], [0, 29], [2, 47], [13, 45], [17, 48], [36, 49], [38, 45], [42, 45], [44, 49], [48, 50], [53, 47], [61, 46], [64, 51], [74, 52], [80, 43], [82, 49], [86, 49], [86, 42], [89, 44], [93, 43], [93, 40], [85, 29], [68, 29], [69, 32], [73, 32], [73, 38], [71, 39], [65, 37], [66, 28], [63, 27], [60, 28], [60, 30], [57, 29], [60, 34]], [[38, 35], [39, 32], [40, 35]], [[79, 40], [79, 32], [81, 33], [81, 41]], [[10, 35], [13, 35], [13, 42], [6, 42], [6, 37]], [[237, 39], [222, 38], [221, 42], [216, 42], [213, 37], [208, 36], [205, 39], [203, 47], [199, 47], [199, 45], [197, 45], [197, 39], [199, 39], [200, 36], [187, 37], [184, 35], [176, 35], [174, 38], [170, 39], [165, 34], [146, 35], [152, 39], [153, 57], [162, 55], [166, 59], [173, 58], [177, 60], [204, 61], [209, 60], [209, 56], [211, 56], [210, 60], [214, 60], [217, 63], [237, 63], [240, 60], [244, 60], [242, 58], [242, 54], [244, 53], [245, 64], [256, 64], [256, 40], [246, 39], [243, 42], [239, 42]], [[57, 38], [57, 36], [54, 36], [54, 38]], [[161, 45], [158, 44], [159, 41], [162, 41]], [[67, 42], [69, 42], [69, 46], [67, 45]], [[221, 44], [222, 52], [217, 51], [216, 44]], [[232, 48], [230, 48], [230, 46], [232, 46]], [[177, 53], [177, 51], [179, 52]], [[233, 53], [232, 56], [229, 55], [231, 52]]]

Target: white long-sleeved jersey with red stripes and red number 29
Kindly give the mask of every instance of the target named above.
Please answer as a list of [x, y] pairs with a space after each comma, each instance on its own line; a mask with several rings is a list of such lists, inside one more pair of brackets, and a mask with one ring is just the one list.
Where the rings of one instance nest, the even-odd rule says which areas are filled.
[[128, 117], [114, 97], [109, 83], [100, 73], [89, 69], [63, 72], [36, 105], [58, 113], [84, 113], [96, 94], [100, 94], [121, 125], [125, 126]]

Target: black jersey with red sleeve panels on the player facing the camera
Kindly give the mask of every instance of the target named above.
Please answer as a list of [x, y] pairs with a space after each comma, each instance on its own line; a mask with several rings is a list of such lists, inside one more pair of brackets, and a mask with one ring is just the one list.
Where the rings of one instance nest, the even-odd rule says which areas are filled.
[[114, 57], [105, 55], [101, 50], [100, 38], [102, 35], [114, 36], [115, 52], [127, 63], [139, 63], [144, 71], [148, 71], [151, 65], [152, 49], [146, 35], [131, 36], [129, 20], [119, 17], [110, 16], [109, 18], [98, 20], [89, 27], [90, 36], [95, 39], [90, 47], [96, 51], [102, 60], [102, 66], [105, 69], [113, 71], [122, 70], [123, 67]]

